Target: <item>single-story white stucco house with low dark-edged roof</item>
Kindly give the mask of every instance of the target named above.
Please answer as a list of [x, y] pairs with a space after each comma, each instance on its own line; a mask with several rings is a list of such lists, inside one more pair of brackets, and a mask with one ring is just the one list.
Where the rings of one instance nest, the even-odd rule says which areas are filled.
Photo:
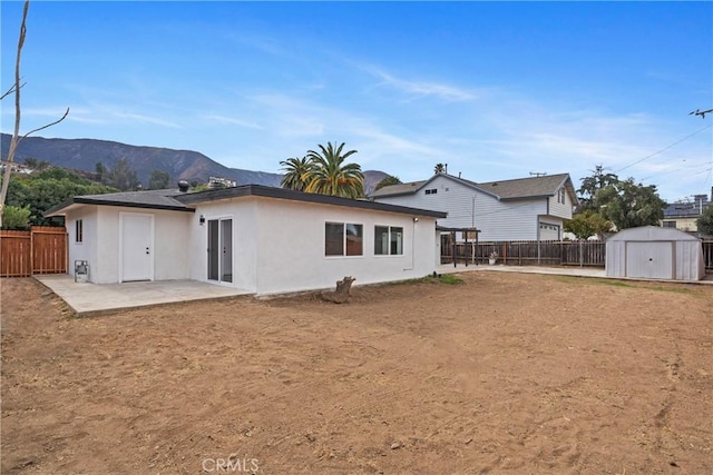
[[69, 268], [115, 284], [192, 279], [257, 295], [431, 274], [442, 211], [246, 185], [78, 196], [64, 216]]

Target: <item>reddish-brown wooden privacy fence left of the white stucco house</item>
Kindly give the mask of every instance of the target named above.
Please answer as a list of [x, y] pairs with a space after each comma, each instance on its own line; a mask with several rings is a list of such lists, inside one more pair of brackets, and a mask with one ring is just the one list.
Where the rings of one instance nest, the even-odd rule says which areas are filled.
[[0, 277], [66, 273], [65, 228], [32, 226], [29, 231], [0, 231]]

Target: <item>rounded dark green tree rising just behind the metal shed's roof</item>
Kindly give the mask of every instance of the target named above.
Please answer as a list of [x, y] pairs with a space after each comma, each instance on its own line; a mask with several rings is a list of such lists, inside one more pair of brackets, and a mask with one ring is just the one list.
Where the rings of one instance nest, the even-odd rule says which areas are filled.
[[666, 204], [656, 192], [655, 185], [635, 184], [633, 178], [616, 181], [599, 189], [594, 197], [594, 207], [616, 229], [638, 226], [658, 226], [664, 217]]

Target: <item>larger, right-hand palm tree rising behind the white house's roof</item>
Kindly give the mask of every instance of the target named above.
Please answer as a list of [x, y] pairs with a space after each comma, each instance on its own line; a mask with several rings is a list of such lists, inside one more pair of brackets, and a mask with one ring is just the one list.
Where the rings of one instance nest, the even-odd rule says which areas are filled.
[[344, 160], [356, 150], [342, 155], [344, 142], [334, 148], [326, 142], [326, 148], [320, 145], [321, 151], [309, 150], [306, 158], [312, 169], [303, 176], [307, 186], [305, 191], [320, 195], [341, 196], [344, 198], [362, 198], [364, 196], [364, 176], [358, 164], [344, 164]]

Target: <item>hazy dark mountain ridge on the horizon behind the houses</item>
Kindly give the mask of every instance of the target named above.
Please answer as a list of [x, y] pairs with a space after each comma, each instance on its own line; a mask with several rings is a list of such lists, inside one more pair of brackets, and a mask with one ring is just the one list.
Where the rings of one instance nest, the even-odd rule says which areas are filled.
[[[0, 137], [0, 151], [3, 160], [7, 158], [10, 140], [11, 136], [8, 133], [2, 133]], [[225, 167], [197, 151], [140, 147], [95, 139], [28, 137], [20, 142], [14, 154], [14, 161], [22, 162], [26, 158], [45, 160], [56, 167], [85, 171], [95, 171], [99, 162], [107, 168], [114, 168], [116, 161], [124, 158], [136, 170], [136, 175], [144, 186], [148, 185], [154, 170], [168, 172], [174, 181], [184, 179], [207, 182], [208, 177], [221, 177], [235, 180], [238, 185], [280, 187], [280, 180], [282, 180], [280, 174]], [[383, 171], [364, 171], [367, 192], [371, 192], [385, 176], [387, 174]]]

